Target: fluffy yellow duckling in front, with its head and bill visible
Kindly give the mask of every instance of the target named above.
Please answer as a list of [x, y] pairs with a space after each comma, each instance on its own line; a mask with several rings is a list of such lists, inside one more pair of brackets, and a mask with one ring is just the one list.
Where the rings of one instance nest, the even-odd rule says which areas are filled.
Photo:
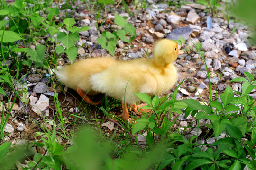
[[134, 104], [141, 101], [133, 93], [158, 95], [175, 85], [177, 69], [172, 63], [182, 53], [183, 51], [178, 50], [176, 42], [161, 39], [154, 45], [153, 59], [119, 61], [102, 72], [92, 74], [90, 77], [92, 89], [122, 100], [121, 117], [129, 121], [127, 103]]

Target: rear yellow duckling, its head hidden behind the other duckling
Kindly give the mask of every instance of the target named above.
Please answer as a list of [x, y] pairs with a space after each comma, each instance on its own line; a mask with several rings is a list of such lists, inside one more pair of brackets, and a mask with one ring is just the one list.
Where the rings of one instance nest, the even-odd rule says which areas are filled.
[[91, 101], [91, 99], [84, 94], [87, 93], [88, 95], [93, 96], [101, 93], [91, 89], [92, 86], [89, 77], [91, 74], [100, 73], [106, 68], [114, 65], [116, 62], [115, 59], [110, 57], [83, 59], [73, 63], [73, 65], [64, 66], [55, 73], [61, 83], [76, 90], [85, 102], [97, 105], [101, 102]]

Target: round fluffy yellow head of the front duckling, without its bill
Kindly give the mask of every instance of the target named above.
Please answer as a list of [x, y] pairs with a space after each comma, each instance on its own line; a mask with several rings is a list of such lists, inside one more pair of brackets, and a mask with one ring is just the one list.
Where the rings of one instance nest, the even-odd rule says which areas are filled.
[[165, 67], [173, 63], [179, 55], [178, 44], [169, 39], [157, 41], [153, 48], [153, 63]]

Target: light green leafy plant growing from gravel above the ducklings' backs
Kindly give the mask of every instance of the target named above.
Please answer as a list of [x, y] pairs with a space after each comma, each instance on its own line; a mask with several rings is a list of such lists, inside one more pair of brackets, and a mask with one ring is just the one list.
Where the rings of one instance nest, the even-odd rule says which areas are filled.
[[97, 42], [101, 47], [108, 50], [112, 56], [114, 56], [118, 38], [123, 42], [130, 43], [136, 36], [135, 27], [129, 24], [123, 17], [115, 15], [114, 22], [123, 27], [123, 29], [118, 29], [113, 33], [104, 31], [101, 36], [97, 38]]

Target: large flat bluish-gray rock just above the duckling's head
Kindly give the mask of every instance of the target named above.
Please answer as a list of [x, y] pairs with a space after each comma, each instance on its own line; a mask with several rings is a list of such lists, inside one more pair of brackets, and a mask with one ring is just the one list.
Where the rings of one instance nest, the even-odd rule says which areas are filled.
[[185, 40], [189, 39], [189, 35], [192, 33], [193, 29], [189, 27], [182, 27], [182, 28], [177, 28], [174, 29], [170, 34], [167, 35], [167, 39], [170, 40], [179, 40], [180, 37], [182, 36]]

